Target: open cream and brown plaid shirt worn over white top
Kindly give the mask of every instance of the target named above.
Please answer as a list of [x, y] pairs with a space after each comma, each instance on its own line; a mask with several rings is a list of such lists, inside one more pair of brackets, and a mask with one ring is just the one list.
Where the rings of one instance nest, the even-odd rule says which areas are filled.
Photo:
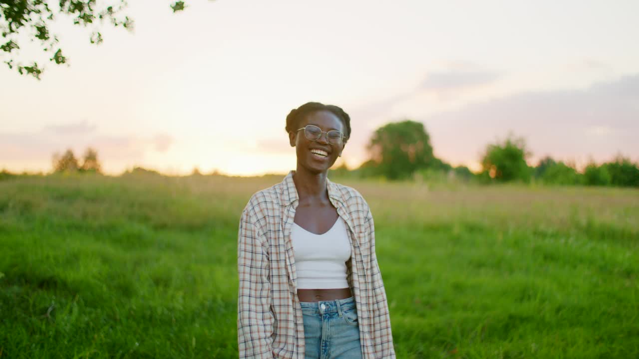
[[[304, 359], [304, 322], [290, 240], [299, 197], [289, 172], [254, 194], [238, 233], [240, 358]], [[350, 231], [347, 280], [355, 297], [364, 359], [395, 358], [389, 307], [375, 255], [373, 215], [362, 195], [327, 179], [328, 198]]]

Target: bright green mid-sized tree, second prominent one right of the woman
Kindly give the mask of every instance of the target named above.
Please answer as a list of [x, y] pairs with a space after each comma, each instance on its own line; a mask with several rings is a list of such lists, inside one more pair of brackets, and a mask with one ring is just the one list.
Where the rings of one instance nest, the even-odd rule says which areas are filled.
[[482, 158], [483, 171], [498, 182], [530, 181], [526, 158], [530, 153], [522, 138], [509, 135], [503, 143], [489, 144]]

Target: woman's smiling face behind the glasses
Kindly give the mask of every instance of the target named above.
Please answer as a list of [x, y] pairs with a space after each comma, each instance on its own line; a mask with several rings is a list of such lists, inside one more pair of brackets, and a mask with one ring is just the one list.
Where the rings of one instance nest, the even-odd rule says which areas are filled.
[[[337, 130], [344, 134], [344, 124], [330, 111], [316, 111], [307, 114], [298, 123], [298, 128], [303, 128], [306, 125], [318, 126], [323, 132]], [[304, 136], [304, 130], [301, 130], [289, 134], [289, 139], [291, 146], [296, 148], [298, 167], [302, 166], [314, 173], [328, 171], [344, 149], [344, 144], [332, 145], [328, 143], [326, 134], [322, 134], [316, 141], [309, 141]], [[318, 149], [325, 151], [327, 156], [312, 153], [312, 150]]]

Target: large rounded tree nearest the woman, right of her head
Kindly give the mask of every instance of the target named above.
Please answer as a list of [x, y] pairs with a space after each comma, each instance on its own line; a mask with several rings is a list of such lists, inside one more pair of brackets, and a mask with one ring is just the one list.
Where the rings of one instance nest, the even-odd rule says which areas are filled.
[[407, 178], [433, 162], [433, 147], [424, 124], [410, 120], [378, 128], [367, 149], [377, 174], [389, 179]]

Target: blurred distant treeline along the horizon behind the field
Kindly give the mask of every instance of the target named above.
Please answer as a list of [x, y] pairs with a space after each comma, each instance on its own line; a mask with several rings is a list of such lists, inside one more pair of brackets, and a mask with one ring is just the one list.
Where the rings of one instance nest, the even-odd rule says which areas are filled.
[[[366, 146], [370, 159], [357, 169], [336, 167], [331, 173], [348, 178], [378, 178], [382, 180], [413, 180], [426, 182], [472, 183], [541, 183], [545, 185], [587, 185], [639, 187], [639, 165], [617, 155], [610, 162], [591, 161], [582, 171], [576, 165], [545, 157], [535, 166], [528, 165], [528, 151], [523, 139], [509, 135], [504, 141], [488, 144], [482, 154], [482, 170], [473, 173], [465, 166], [453, 167], [433, 155], [430, 136], [424, 124], [416, 121], [388, 123], [378, 128]], [[68, 149], [54, 154], [54, 172], [101, 173], [102, 165], [93, 148], [86, 149], [78, 159]], [[157, 171], [134, 167], [130, 174], [156, 174]], [[213, 175], [218, 174], [213, 172]], [[201, 176], [194, 169], [193, 176]], [[12, 176], [0, 172], [0, 179]]]

